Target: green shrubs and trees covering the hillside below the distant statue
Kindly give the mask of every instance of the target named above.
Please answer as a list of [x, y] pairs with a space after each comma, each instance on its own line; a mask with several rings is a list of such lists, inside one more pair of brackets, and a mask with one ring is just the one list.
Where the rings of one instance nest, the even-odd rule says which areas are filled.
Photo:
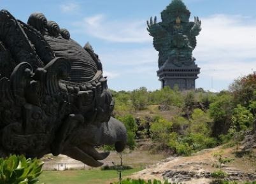
[[130, 149], [139, 145], [136, 139], [149, 139], [148, 148], [154, 152], [191, 155], [224, 143], [238, 146], [256, 129], [255, 74], [235, 80], [229, 90], [218, 93], [169, 87], [112, 93], [113, 116], [127, 127]]

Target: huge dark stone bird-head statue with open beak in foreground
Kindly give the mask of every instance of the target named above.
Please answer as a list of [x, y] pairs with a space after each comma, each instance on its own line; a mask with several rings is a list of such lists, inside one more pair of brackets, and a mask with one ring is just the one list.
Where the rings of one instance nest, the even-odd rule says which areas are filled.
[[95, 146], [124, 150], [98, 55], [42, 13], [25, 24], [0, 11], [0, 74], [1, 157], [61, 153], [97, 167], [108, 153]]

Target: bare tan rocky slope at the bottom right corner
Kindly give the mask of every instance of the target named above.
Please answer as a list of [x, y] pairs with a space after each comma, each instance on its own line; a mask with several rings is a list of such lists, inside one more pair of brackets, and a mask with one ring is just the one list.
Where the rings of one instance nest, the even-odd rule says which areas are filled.
[[191, 157], [169, 157], [134, 174], [132, 178], [168, 180], [186, 184], [208, 184], [213, 180], [211, 173], [217, 170], [213, 167], [217, 160], [213, 153], [223, 152], [224, 157], [234, 159], [230, 164], [222, 166], [228, 173], [227, 180], [256, 181], [256, 150], [246, 153], [243, 157], [236, 157], [235, 148], [213, 148], [203, 150]]

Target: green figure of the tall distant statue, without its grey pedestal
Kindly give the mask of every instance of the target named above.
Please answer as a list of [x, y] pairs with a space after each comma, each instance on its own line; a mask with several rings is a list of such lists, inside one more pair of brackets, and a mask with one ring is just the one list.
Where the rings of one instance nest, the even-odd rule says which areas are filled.
[[159, 51], [159, 68], [166, 62], [178, 67], [194, 64], [192, 51], [201, 31], [201, 20], [195, 17], [194, 22], [189, 22], [190, 11], [181, 0], [173, 0], [161, 12], [161, 18], [159, 23], [157, 17], [147, 22], [153, 46]]

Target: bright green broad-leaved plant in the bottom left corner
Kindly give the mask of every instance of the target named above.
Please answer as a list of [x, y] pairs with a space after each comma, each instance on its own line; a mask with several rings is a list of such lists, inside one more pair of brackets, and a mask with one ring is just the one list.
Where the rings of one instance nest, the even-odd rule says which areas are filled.
[[42, 167], [41, 160], [26, 159], [23, 155], [0, 158], [0, 184], [38, 183]]

